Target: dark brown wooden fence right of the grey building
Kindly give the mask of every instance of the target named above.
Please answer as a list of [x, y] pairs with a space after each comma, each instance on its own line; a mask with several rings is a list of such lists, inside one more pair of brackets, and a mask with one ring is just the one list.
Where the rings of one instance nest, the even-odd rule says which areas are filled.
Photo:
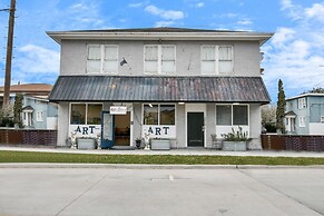
[[262, 135], [264, 150], [324, 151], [324, 136]]

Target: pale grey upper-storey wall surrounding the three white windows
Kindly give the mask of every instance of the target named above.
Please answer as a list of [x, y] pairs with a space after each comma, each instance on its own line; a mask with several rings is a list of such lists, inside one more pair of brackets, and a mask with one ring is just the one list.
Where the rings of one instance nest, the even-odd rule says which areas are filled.
[[[144, 75], [144, 45], [153, 41], [91, 41], [90, 43], [118, 45], [118, 59], [122, 57], [127, 65], [118, 65], [118, 75]], [[259, 47], [255, 41], [163, 41], [176, 45], [177, 76], [200, 75], [202, 45], [233, 45], [234, 72], [227, 76], [259, 76]], [[61, 75], [86, 75], [87, 41], [62, 41], [61, 43]], [[104, 75], [104, 73], [101, 73]], [[223, 75], [224, 76], [224, 75]]]

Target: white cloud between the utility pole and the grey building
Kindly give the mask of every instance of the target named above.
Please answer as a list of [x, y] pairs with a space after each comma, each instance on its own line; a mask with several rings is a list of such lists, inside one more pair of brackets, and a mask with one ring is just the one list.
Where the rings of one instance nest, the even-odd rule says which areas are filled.
[[20, 58], [17, 68], [21, 72], [58, 73], [60, 55], [58, 51], [46, 49], [36, 45], [27, 45], [19, 50]]

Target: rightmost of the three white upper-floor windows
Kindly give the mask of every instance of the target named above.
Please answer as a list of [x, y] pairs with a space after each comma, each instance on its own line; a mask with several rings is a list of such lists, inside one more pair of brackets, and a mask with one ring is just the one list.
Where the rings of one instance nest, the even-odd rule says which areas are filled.
[[232, 46], [202, 46], [202, 73], [218, 75], [233, 71]]

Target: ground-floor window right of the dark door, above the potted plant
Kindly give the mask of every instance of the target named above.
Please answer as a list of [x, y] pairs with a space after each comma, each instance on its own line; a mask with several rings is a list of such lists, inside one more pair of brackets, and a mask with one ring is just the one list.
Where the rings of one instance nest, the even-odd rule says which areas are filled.
[[217, 105], [216, 125], [242, 126], [248, 125], [247, 105]]

